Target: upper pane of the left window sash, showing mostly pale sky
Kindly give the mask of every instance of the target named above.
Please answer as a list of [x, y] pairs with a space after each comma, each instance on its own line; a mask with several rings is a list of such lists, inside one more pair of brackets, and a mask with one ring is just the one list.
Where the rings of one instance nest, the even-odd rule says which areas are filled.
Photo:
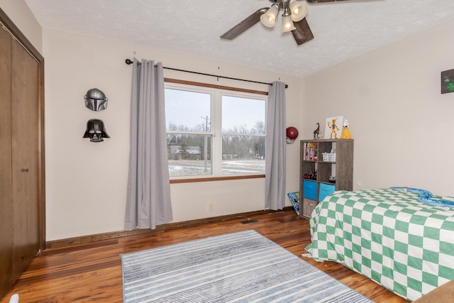
[[211, 94], [165, 89], [168, 131], [210, 131]]

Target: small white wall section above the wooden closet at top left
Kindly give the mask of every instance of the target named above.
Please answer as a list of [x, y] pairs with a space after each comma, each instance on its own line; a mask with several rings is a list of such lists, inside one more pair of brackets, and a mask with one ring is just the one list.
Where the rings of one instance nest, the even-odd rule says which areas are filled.
[[0, 7], [33, 46], [43, 54], [43, 30], [23, 0], [0, 0]]

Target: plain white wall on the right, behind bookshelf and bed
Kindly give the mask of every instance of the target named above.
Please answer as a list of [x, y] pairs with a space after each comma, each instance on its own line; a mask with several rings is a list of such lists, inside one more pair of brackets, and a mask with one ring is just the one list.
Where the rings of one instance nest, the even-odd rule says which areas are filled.
[[307, 77], [303, 136], [329, 116], [350, 121], [354, 189], [454, 196], [454, 93], [441, 94], [440, 75], [454, 69], [453, 31], [448, 23]]

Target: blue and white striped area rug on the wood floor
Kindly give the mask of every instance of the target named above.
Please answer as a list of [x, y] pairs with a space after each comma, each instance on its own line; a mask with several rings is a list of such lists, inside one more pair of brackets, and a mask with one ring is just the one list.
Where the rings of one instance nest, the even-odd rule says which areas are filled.
[[372, 302], [256, 231], [121, 256], [124, 302]]

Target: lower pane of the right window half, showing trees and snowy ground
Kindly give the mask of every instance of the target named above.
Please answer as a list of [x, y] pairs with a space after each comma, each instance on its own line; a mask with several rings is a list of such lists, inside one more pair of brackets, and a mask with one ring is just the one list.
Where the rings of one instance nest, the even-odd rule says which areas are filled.
[[265, 136], [222, 136], [222, 175], [265, 174]]

